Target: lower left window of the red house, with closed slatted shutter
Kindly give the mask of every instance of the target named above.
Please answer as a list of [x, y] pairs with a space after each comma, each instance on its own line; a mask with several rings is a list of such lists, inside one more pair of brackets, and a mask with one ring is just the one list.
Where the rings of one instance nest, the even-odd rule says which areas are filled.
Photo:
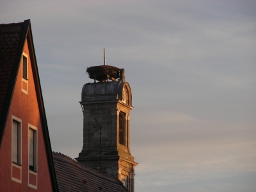
[[12, 162], [21, 164], [21, 131], [20, 122], [12, 121]]

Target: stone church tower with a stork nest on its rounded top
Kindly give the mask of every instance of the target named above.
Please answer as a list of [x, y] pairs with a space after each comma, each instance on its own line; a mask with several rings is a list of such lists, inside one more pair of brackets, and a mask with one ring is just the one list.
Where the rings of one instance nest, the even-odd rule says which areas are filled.
[[87, 72], [95, 82], [82, 89], [83, 149], [76, 160], [113, 175], [133, 192], [137, 163], [130, 151], [132, 93], [124, 69], [101, 65]]

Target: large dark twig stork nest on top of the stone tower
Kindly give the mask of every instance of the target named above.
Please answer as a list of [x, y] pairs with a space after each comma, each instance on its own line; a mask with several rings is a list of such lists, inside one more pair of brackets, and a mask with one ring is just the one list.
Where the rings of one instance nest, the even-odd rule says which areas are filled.
[[86, 68], [86, 74], [88, 74], [91, 79], [98, 81], [104, 81], [106, 79], [115, 80], [120, 76], [120, 68], [110, 65], [92, 66]]

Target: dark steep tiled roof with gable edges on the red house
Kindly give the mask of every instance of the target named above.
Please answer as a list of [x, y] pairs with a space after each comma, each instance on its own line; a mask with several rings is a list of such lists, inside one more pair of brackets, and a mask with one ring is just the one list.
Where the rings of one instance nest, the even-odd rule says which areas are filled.
[[16, 24], [0, 24], [0, 148], [26, 40], [28, 42], [52, 189], [58, 191], [30, 20], [24, 20], [24, 22]]

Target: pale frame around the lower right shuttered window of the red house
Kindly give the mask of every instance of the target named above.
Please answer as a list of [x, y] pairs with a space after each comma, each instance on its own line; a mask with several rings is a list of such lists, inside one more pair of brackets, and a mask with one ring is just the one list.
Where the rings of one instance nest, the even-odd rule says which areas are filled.
[[[31, 124], [28, 124], [28, 132], [29, 132], [29, 129], [33, 129], [34, 131], [34, 169], [33, 170], [29, 169], [29, 135], [28, 135], [28, 186], [30, 188], [37, 189], [38, 131], [37, 131], [37, 127]], [[36, 176], [36, 186], [34, 186], [33, 184], [29, 184], [29, 173]]]

